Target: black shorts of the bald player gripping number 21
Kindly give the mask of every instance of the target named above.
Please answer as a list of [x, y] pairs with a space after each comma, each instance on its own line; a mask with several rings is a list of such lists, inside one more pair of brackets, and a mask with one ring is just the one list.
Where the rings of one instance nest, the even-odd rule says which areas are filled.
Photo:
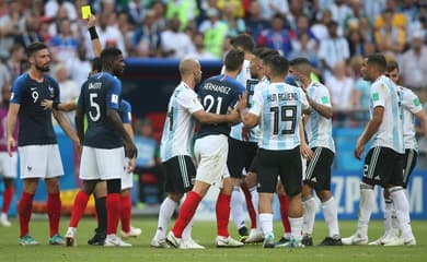
[[193, 189], [196, 168], [187, 155], [180, 155], [163, 163], [166, 171], [164, 190], [168, 193], [185, 193]]

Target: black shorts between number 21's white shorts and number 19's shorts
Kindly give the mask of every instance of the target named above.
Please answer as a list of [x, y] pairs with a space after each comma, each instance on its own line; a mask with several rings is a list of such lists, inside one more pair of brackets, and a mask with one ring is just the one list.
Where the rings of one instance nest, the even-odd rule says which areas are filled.
[[232, 178], [242, 178], [243, 168], [249, 171], [256, 155], [258, 145], [255, 142], [240, 141], [229, 138], [229, 155], [227, 167]]

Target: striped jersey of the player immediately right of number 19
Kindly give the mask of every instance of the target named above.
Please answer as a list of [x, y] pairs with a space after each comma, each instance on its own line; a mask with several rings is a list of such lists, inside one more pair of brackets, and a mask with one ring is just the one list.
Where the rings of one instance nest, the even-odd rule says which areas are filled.
[[[332, 107], [331, 96], [326, 86], [311, 82], [307, 87], [308, 95], [323, 106]], [[332, 120], [323, 117], [316, 110], [311, 110], [305, 123], [305, 133], [309, 146], [326, 147], [335, 153], [335, 143], [332, 138]]]

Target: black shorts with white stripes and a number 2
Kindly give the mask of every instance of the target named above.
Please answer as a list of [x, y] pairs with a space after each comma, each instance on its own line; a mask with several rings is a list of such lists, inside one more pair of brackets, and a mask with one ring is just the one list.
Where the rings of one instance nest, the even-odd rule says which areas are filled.
[[403, 186], [403, 154], [389, 147], [377, 146], [368, 152], [363, 165], [365, 183], [383, 188]]

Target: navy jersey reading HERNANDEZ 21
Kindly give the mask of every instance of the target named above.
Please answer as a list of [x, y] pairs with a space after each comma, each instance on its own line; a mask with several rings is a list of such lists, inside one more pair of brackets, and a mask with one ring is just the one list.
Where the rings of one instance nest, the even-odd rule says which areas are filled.
[[[198, 97], [205, 110], [212, 114], [226, 115], [229, 107], [234, 107], [239, 96], [245, 92], [244, 86], [235, 79], [220, 74], [207, 79], [199, 88]], [[201, 123], [198, 138], [209, 134], [230, 134], [229, 123]]]

